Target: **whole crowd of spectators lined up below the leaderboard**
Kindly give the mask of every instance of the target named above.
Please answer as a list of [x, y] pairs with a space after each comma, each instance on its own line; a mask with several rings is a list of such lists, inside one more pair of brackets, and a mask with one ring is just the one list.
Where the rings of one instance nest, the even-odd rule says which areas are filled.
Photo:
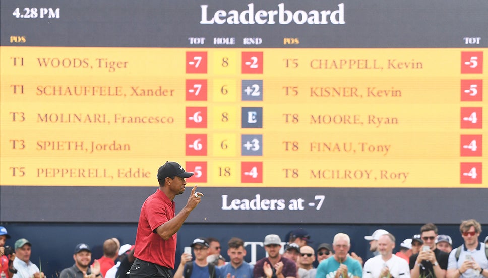
[[[200, 237], [188, 243], [174, 278], [488, 278], [488, 245], [479, 239], [481, 225], [474, 219], [463, 221], [459, 231], [463, 243], [453, 246], [450, 235], [438, 234], [436, 225], [423, 225], [418, 234], [396, 239], [384, 229], [365, 235], [370, 254], [364, 258], [350, 250], [350, 238], [337, 233], [332, 242], [315, 243], [304, 229], [296, 229], [280, 238], [266, 235], [266, 255], [251, 264], [245, 261], [246, 242], [232, 237], [227, 253], [221, 254], [220, 241]], [[44, 278], [44, 273], [30, 261], [32, 243], [21, 238], [14, 247], [6, 246], [11, 238], [0, 226], [1, 278]], [[398, 252], [393, 253], [397, 247]], [[85, 243], [75, 246], [74, 264], [60, 270], [58, 278], [128, 278], [134, 262], [134, 245], [120, 245], [117, 238], [103, 242], [103, 256], [92, 258]]]

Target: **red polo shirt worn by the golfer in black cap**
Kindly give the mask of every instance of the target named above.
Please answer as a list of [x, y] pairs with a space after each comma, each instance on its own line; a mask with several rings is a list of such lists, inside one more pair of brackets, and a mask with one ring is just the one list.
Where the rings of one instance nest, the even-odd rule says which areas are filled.
[[173, 217], [174, 202], [164, 192], [156, 190], [146, 199], [141, 208], [134, 257], [169, 269], [174, 268], [176, 233], [168, 240], [162, 239], [156, 233], [157, 227]]

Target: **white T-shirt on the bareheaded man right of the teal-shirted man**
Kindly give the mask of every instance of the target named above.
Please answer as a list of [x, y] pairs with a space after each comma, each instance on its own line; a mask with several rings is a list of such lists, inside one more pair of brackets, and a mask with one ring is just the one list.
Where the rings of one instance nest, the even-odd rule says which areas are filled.
[[367, 260], [362, 269], [362, 278], [379, 278], [385, 266], [394, 278], [410, 278], [410, 267], [407, 261], [393, 254], [387, 261], [384, 261], [381, 255]]

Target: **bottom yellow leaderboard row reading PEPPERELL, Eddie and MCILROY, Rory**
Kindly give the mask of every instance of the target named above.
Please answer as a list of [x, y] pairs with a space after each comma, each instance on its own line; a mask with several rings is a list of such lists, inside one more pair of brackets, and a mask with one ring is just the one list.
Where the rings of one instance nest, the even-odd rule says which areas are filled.
[[[486, 163], [456, 159], [256, 159], [170, 157], [139, 159], [2, 158], [2, 185], [155, 186], [166, 158], [185, 161], [189, 186], [213, 187], [478, 187]], [[154, 158], [154, 157], [161, 158]]]

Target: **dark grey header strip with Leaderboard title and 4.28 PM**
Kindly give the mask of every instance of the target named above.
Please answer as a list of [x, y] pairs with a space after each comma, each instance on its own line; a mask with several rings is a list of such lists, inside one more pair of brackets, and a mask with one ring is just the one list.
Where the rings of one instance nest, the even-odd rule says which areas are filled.
[[2, 46], [479, 48], [486, 10], [482, 0], [4, 0], [0, 37]]

